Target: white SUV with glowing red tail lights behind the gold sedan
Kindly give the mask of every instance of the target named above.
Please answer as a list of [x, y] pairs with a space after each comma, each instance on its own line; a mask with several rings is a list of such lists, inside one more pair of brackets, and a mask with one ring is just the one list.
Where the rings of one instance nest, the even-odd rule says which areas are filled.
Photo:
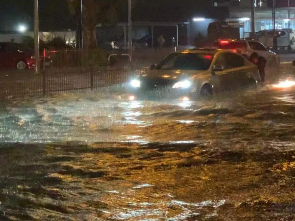
[[250, 57], [254, 52], [264, 57], [269, 65], [275, 65], [279, 67], [280, 57], [266, 48], [262, 43], [254, 40], [235, 40], [235, 39], [220, 39], [213, 44], [214, 47], [219, 49], [229, 49], [233, 52], [238, 52]]

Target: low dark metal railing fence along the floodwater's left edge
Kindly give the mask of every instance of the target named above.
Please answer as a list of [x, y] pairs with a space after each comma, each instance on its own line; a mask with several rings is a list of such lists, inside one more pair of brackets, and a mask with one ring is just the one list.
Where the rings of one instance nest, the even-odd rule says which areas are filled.
[[40, 75], [34, 71], [4, 72], [0, 75], [0, 99], [123, 87], [132, 76], [146, 71], [105, 67], [46, 70]]

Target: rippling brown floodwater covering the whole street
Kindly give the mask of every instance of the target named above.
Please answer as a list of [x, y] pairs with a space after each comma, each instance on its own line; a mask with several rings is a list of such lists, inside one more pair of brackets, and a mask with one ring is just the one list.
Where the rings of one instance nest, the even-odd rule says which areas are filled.
[[2, 103], [0, 220], [295, 220], [294, 110], [295, 88], [271, 85]]

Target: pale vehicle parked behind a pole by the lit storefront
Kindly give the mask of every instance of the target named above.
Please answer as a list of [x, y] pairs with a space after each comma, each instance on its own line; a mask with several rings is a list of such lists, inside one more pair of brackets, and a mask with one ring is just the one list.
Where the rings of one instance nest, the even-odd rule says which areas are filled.
[[[288, 37], [289, 32], [289, 37]], [[295, 33], [292, 29], [275, 30], [278, 40], [278, 48], [291, 49], [291, 45], [295, 44]], [[255, 33], [255, 39], [266, 47], [273, 47], [273, 30], [263, 30]]]

